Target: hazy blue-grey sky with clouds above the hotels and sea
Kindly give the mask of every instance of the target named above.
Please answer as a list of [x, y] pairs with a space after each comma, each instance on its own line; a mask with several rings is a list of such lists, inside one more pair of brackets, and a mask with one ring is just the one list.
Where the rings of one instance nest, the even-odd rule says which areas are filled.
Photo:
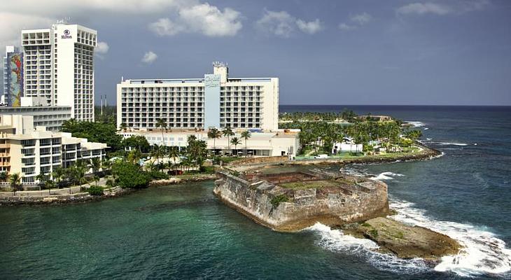
[[97, 30], [97, 103], [221, 61], [278, 77], [280, 104], [511, 105], [511, 1], [1, 1], [1, 50], [62, 18]]

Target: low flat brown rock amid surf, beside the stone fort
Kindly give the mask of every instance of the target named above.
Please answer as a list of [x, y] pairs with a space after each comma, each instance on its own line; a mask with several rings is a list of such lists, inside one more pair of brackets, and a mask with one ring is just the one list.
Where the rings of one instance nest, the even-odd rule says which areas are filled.
[[389, 218], [374, 218], [361, 224], [340, 227], [344, 234], [376, 242], [383, 250], [398, 258], [423, 258], [437, 261], [444, 255], [455, 255], [458, 241], [428, 228], [409, 226]]

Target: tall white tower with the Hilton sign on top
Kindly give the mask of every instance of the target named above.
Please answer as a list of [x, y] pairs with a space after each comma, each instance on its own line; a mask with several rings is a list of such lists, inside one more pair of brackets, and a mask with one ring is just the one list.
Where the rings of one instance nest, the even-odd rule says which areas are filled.
[[71, 106], [71, 118], [94, 121], [94, 48], [97, 31], [59, 23], [22, 30], [24, 97]]

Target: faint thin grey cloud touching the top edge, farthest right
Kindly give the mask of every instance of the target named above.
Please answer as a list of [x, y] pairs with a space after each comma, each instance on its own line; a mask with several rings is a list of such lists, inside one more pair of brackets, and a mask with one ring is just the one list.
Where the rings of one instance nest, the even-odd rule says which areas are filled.
[[449, 1], [448, 4], [433, 2], [415, 2], [405, 6], [400, 6], [395, 11], [401, 15], [424, 15], [427, 13], [434, 15], [447, 15], [450, 13], [468, 13], [476, 10], [483, 10], [489, 5], [489, 0], [472, 1]]

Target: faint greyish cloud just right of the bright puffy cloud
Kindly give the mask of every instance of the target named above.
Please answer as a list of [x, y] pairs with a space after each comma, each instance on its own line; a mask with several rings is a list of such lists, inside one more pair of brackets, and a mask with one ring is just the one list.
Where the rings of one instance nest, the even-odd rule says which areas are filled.
[[265, 10], [262, 17], [255, 22], [255, 27], [267, 34], [287, 38], [291, 36], [296, 29], [307, 34], [315, 34], [323, 30], [323, 23], [319, 21], [319, 19], [306, 22], [293, 17], [284, 10], [280, 12]]

